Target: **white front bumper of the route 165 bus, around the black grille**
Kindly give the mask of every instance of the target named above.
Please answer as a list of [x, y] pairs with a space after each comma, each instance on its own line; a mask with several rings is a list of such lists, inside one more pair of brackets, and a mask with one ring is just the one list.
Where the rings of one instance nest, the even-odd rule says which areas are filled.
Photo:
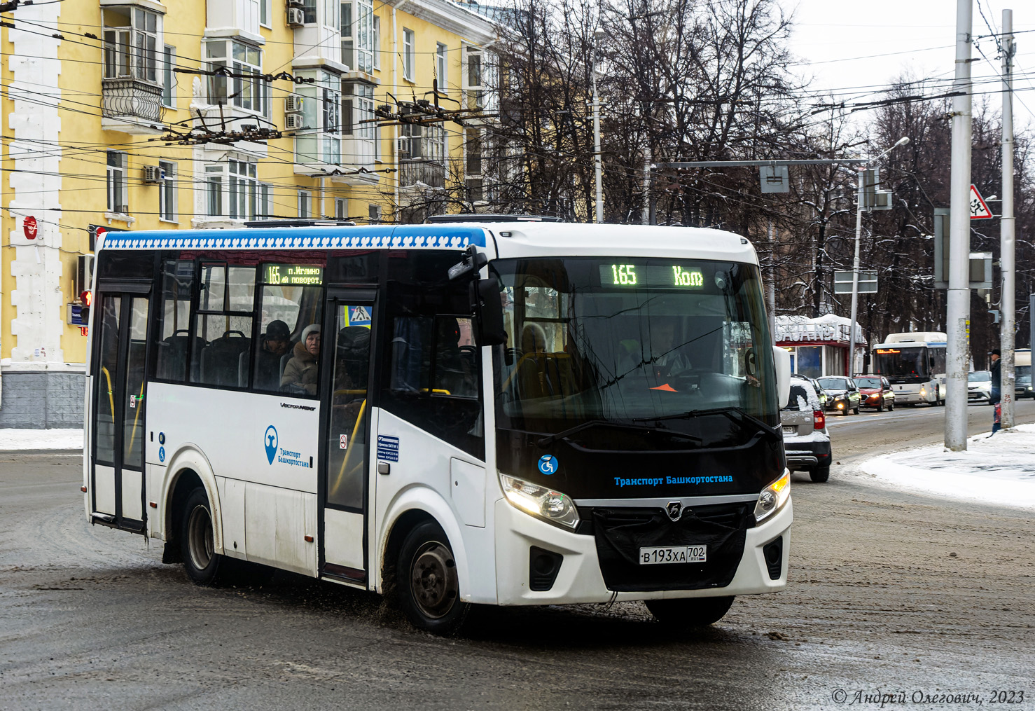
[[[746, 531], [743, 555], [733, 580], [723, 588], [652, 590], [615, 593], [607, 588], [597, 558], [596, 539], [576, 534], [524, 513], [500, 499], [496, 502], [496, 588], [499, 604], [567, 604], [614, 600], [716, 597], [776, 592], [787, 587], [791, 549], [792, 500], [771, 519]], [[770, 577], [763, 547], [782, 538], [779, 576]], [[531, 549], [563, 556], [549, 590], [530, 588]]]

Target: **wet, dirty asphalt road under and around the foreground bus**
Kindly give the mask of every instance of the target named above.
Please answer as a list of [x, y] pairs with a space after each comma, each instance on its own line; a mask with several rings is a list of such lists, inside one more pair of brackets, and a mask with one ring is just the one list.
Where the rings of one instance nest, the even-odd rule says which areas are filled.
[[[1035, 403], [1017, 412], [1035, 421]], [[895, 694], [884, 708], [1005, 691], [1021, 703], [1003, 708], [1032, 709], [1033, 514], [854, 467], [940, 441], [943, 413], [832, 417], [841, 465], [825, 484], [794, 477], [788, 590], [690, 634], [624, 603], [489, 610], [443, 640], [296, 575], [198, 588], [160, 543], [86, 523], [78, 454], [0, 452], [0, 709], [881, 708], [862, 695], [878, 690]], [[988, 428], [990, 408], [970, 415]]]

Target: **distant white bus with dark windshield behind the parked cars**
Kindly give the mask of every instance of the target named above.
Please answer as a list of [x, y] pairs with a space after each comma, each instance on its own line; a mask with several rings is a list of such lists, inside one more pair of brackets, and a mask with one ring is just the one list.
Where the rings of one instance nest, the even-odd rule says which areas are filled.
[[895, 391], [895, 405], [945, 405], [944, 333], [889, 333], [873, 348], [873, 371]]

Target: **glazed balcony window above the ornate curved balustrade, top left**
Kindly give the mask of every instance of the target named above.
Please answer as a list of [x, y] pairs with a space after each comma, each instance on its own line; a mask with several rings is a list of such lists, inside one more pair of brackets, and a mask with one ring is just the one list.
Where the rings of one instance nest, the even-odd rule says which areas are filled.
[[140, 7], [106, 7], [105, 79], [142, 79], [158, 82], [157, 13]]

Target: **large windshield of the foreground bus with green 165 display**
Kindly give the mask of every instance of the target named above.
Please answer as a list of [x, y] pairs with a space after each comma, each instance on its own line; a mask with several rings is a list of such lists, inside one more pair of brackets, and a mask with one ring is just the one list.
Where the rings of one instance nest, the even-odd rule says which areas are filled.
[[554, 434], [723, 409], [778, 422], [757, 267], [628, 258], [494, 265], [508, 334], [496, 352], [498, 426]]

